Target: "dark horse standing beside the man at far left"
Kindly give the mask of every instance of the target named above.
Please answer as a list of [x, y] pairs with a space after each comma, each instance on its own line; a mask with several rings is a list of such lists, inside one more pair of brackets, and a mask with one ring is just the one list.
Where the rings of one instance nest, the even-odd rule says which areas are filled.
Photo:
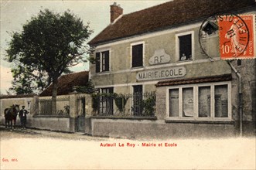
[[7, 128], [7, 124], [10, 127], [10, 123], [12, 128], [12, 121], [15, 128], [18, 113], [19, 113], [18, 104], [15, 104], [15, 105], [13, 104], [11, 107], [5, 109], [5, 128]]

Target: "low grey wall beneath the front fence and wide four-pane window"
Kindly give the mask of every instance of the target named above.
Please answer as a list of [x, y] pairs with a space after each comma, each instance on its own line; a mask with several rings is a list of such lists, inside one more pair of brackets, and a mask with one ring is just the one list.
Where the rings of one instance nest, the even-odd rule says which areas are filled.
[[91, 119], [93, 136], [111, 138], [219, 138], [234, 136], [234, 124], [166, 123], [156, 120]]

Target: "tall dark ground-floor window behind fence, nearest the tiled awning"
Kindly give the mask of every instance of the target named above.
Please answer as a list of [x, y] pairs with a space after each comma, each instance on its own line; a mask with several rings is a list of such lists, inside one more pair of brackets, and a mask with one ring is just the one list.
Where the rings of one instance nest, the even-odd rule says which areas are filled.
[[143, 88], [142, 85], [133, 86], [133, 114], [142, 115]]

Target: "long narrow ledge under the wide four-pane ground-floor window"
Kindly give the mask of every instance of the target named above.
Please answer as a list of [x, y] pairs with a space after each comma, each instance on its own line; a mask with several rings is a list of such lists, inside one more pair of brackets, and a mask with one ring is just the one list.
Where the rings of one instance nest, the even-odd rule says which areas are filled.
[[234, 124], [234, 121], [220, 121], [220, 120], [170, 120], [166, 119], [166, 123], [187, 123], [187, 124]]

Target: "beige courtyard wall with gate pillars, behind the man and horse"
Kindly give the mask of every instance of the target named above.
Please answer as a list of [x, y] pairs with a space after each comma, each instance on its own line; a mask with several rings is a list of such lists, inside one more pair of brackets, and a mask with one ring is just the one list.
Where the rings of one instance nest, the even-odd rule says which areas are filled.
[[[89, 94], [83, 93], [70, 93], [69, 95], [58, 96], [58, 99], [68, 98], [69, 100], [65, 100], [64, 102], [57, 102], [57, 108], [63, 109], [65, 105], [70, 106], [70, 114], [69, 115], [39, 115], [39, 100], [42, 99], [50, 99], [51, 97], [22, 97], [22, 98], [4, 98], [0, 100], [0, 118], [1, 124], [5, 124], [4, 117], [4, 109], [12, 104], [20, 104], [20, 106], [25, 105], [26, 109], [27, 101], [31, 102], [31, 107], [29, 110], [29, 114], [27, 115], [27, 127], [28, 128], [39, 128], [51, 131], [66, 131], [66, 132], [76, 132], [77, 131], [77, 117], [84, 116], [81, 114], [82, 104], [81, 97], [85, 97], [85, 111], [88, 116], [92, 114], [91, 108], [91, 97]], [[18, 126], [20, 125], [19, 117], [17, 117]], [[88, 122], [87, 122], [88, 124]], [[87, 126], [86, 124], [86, 126]], [[85, 131], [84, 127], [84, 131]]]

